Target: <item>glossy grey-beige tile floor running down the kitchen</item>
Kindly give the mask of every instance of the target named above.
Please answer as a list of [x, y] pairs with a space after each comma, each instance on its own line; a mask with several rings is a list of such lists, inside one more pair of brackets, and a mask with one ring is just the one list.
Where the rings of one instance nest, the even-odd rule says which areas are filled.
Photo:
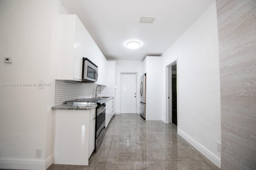
[[47, 170], [218, 170], [177, 134], [174, 124], [115, 115], [88, 166], [52, 164]]

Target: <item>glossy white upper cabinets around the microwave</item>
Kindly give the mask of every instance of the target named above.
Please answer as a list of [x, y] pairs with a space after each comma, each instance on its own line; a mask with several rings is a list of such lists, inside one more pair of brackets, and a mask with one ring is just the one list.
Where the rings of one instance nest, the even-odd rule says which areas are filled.
[[56, 80], [82, 80], [82, 58], [98, 66], [98, 84], [106, 84], [106, 58], [76, 15], [60, 15]]

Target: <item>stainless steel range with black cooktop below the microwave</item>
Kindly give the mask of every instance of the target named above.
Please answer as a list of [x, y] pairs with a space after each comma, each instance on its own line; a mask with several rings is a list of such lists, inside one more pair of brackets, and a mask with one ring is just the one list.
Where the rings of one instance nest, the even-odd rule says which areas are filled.
[[106, 130], [106, 98], [82, 98], [76, 100], [70, 100], [66, 104], [72, 104], [73, 106], [84, 106], [90, 104], [97, 104], [96, 107], [96, 123], [95, 123], [95, 149], [97, 152], [100, 144], [104, 138]]

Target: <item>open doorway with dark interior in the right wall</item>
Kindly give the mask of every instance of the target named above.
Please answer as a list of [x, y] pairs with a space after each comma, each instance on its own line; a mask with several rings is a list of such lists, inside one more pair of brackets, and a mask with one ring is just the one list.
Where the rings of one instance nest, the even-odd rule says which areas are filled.
[[177, 61], [167, 66], [167, 123], [178, 125]]

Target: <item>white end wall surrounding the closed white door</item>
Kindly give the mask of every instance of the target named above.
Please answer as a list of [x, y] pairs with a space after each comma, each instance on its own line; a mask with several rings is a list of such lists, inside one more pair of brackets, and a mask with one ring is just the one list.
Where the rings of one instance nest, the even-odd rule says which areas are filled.
[[137, 73], [136, 110], [140, 112], [140, 76], [142, 76], [143, 61], [116, 60], [116, 114], [120, 114], [120, 94], [121, 94], [121, 73]]

